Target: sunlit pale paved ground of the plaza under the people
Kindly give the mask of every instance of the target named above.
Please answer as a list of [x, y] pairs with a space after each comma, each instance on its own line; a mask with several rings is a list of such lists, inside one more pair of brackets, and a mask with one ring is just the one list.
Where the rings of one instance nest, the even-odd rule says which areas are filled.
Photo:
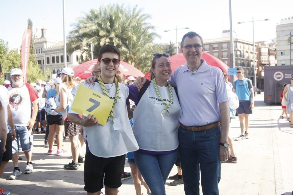
[[[289, 122], [285, 119], [279, 119], [281, 113], [281, 106], [266, 106], [263, 103], [263, 93], [256, 96], [255, 109], [250, 116], [249, 139], [234, 141], [238, 162], [222, 164], [220, 194], [291, 195], [293, 128], [289, 127]], [[230, 134], [232, 137], [240, 135], [238, 117], [232, 119]], [[13, 169], [12, 162], [9, 162], [0, 179], [0, 188], [10, 190], [11, 194], [86, 194], [83, 164], [79, 170], [63, 170], [63, 165], [71, 162], [69, 140], [64, 142], [67, 154], [55, 156], [47, 155], [48, 149], [43, 146], [44, 134], [35, 134], [34, 138], [34, 172], [22, 174], [16, 180], [8, 180]], [[56, 146], [54, 149], [56, 150]], [[20, 154], [25, 160], [23, 152]], [[20, 161], [19, 167], [23, 173], [25, 165], [25, 161]], [[125, 171], [130, 172], [127, 163]], [[176, 172], [174, 166], [170, 175]], [[183, 185], [170, 186], [169, 182], [171, 180], [166, 182], [166, 194], [184, 194]], [[132, 179], [122, 181], [119, 190], [119, 195], [134, 195]], [[142, 192], [146, 194], [143, 186]]]

